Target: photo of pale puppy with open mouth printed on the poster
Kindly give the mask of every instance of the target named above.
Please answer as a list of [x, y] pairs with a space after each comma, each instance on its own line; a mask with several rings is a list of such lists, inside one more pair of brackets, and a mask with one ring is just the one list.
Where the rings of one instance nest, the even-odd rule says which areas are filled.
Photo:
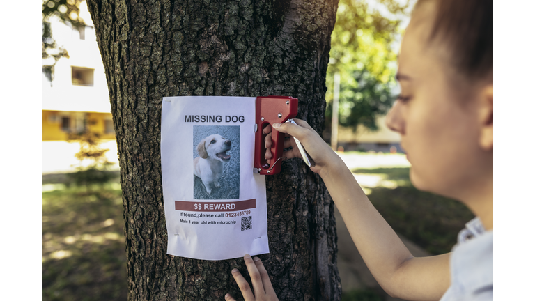
[[194, 199], [240, 199], [240, 126], [193, 126]]

